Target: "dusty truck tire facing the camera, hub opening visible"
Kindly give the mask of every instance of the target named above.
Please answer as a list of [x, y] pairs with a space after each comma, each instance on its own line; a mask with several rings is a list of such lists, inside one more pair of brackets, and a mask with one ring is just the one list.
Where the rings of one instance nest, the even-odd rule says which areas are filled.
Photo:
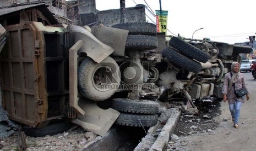
[[106, 57], [97, 63], [87, 57], [78, 68], [78, 90], [93, 101], [104, 101], [118, 89], [121, 73], [115, 60]]

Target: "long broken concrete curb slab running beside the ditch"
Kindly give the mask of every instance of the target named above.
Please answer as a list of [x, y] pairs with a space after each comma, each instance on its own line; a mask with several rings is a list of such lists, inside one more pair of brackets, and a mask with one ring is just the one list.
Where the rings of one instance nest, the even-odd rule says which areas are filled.
[[165, 126], [162, 128], [161, 132], [156, 138], [156, 141], [154, 142], [154, 144], [152, 144], [149, 151], [166, 150], [167, 143], [173, 131], [175, 130], [175, 127], [178, 124], [178, 120], [180, 116], [181, 116], [181, 111], [177, 111], [175, 115], [170, 116], [170, 118], [168, 119]]

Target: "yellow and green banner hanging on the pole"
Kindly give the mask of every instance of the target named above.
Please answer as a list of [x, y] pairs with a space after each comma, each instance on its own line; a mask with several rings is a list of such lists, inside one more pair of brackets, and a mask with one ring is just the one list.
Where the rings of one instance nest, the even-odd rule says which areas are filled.
[[166, 10], [156, 10], [156, 29], [157, 32], [167, 31], [167, 14]]

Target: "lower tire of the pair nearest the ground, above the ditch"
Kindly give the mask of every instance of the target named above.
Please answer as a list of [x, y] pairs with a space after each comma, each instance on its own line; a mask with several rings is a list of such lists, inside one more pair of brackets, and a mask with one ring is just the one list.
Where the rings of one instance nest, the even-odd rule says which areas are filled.
[[156, 114], [140, 115], [121, 113], [115, 124], [132, 127], [151, 127], [157, 124], [158, 116]]

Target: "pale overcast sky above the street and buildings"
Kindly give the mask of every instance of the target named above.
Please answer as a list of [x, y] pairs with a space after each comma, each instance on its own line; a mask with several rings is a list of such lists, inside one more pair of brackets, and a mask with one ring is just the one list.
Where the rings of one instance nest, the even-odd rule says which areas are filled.
[[[95, 1], [97, 10], [120, 8], [119, 0]], [[126, 8], [136, 4], [154, 13], [160, 10], [160, 0], [126, 0]], [[256, 35], [255, 0], [161, 0], [161, 7], [168, 11], [167, 35], [192, 38], [194, 33], [194, 39], [230, 44], [249, 42], [248, 37]]]

